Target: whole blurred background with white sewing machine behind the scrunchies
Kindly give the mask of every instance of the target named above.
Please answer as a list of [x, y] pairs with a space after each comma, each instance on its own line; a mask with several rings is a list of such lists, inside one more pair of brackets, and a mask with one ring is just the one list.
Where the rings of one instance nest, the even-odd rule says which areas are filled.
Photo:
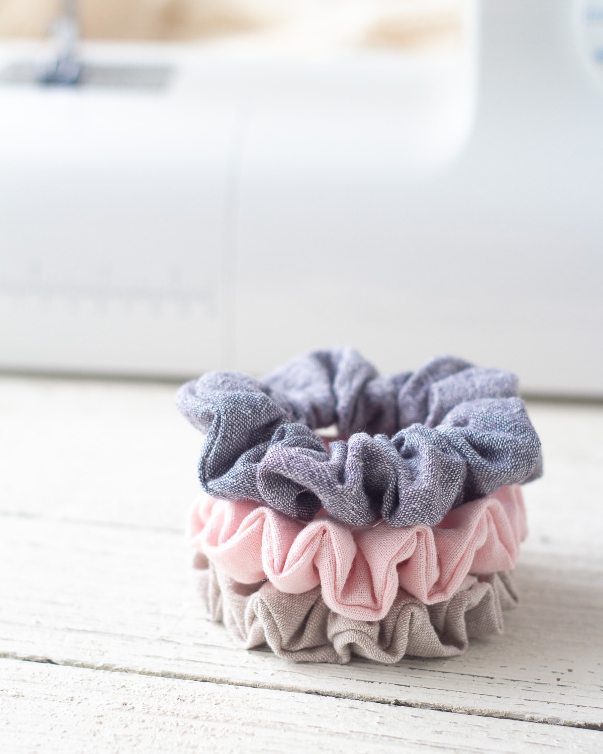
[[348, 344], [603, 397], [603, 0], [0, 0], [0, 369]]

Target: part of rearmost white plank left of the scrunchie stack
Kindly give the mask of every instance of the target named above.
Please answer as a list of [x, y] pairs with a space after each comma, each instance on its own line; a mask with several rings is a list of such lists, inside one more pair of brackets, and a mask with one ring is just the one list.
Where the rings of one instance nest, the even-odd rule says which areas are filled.
[[200, 434], [176, 385], [0, 376], [0, 512], [183, 529]]

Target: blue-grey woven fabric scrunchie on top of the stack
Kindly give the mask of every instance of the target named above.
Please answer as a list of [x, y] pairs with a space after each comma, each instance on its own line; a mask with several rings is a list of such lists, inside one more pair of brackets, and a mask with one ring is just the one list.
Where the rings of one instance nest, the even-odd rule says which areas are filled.
[[[207, 433], [201, 486], [296, 519], [324, 507], [366, 526], [436, 526], [453, 507], [541, 474], [517, 379], [454, 357], [378, 375], [357, 351], [315, 351], [259, 382], [209, 372], [177, 403]], [[326, 451], [317, 428], [337, 425]]]

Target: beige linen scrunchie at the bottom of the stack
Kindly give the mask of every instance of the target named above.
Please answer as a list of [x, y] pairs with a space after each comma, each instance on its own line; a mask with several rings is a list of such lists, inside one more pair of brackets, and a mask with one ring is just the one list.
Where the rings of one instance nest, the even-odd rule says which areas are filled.
[[273, 584], [240, 584], [201, 557], [197, 589], [214, 621], [251, 649], [268, 645], [293, 662], [346, 664], [353, 655], [392, 664], [406, 655], [453, 657], [470, 638], [502, 633], [502, 611], [516, 605], [510, 574], [466, 576], [444, 602], [424, 605], [399, 589], [387, 615], [360, 621], [332, 611], [320, 587], [301, 594]]

